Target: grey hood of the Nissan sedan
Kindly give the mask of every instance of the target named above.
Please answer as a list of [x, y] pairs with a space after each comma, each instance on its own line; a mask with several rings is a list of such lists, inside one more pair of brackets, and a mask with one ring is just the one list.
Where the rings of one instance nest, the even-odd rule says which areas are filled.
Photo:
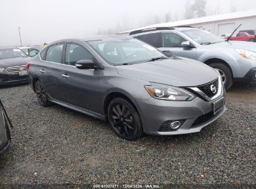
[[120, 75], [172, 86], [197, 86], [215, 80], [218, 73], [204, 63], [189, 58], [116, 66]]

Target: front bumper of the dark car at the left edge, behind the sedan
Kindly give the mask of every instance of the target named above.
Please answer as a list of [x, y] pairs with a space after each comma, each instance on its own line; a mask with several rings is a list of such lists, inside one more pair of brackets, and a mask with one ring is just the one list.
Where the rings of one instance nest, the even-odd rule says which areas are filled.
[[19, 76], [18, 74], [9, 74], [0, 72], [0, 85], [10, 85], [17, 83], [27, 83], [27, 75]]

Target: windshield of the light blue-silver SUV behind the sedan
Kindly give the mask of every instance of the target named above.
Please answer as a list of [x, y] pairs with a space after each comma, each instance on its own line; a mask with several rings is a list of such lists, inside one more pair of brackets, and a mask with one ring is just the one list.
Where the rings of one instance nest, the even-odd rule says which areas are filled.
[[192, 29], [183, 30], [182, 32], [201, 45], [217, 44], [220, 42], [224, 42], [224, 39], [214, 34], [211, 34], [211, 32], [207, 32], [206, 30]]

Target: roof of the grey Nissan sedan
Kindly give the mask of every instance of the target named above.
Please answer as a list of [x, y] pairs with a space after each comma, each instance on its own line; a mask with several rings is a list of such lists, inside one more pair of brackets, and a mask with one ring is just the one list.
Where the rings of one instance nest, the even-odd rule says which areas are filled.
[[56, 40], [55, 42], [52, 42], [52, 44], [57, 44], [60, 42], [88, 42], [88, 41], [93, 41], [93, 40], [127, 40], [131, 39], [129, 36], [125, 35], [88, 35], [82, 39], [79, 38], [73, 38], [73, 39], [61, 39], [61, 40]]

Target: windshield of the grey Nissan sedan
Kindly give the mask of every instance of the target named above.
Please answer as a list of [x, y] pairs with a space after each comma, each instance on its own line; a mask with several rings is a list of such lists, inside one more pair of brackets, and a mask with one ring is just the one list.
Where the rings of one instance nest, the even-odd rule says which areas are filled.
[[152, 58], [166, 57], [138, 39], [97, 40], [88, 42], [110, 65], [143, 63]]

